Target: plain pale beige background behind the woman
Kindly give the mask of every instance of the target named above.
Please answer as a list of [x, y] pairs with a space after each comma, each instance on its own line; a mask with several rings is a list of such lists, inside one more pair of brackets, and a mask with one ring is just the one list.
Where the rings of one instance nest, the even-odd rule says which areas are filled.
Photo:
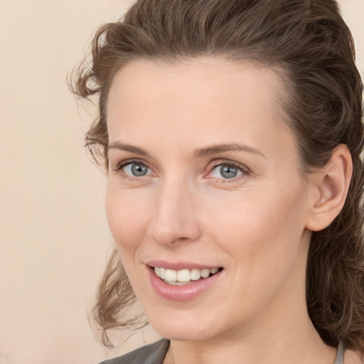
[[[105, 178], [66, 75], [97, 26], [131, 0], [0, 0], [0, 364], [86, 364], [117, 355], [87, 322], [107, 252]], [[364, 0], [341, 0], [364, 70]], [[146, 330], [146, 341], [156, 336]], [[123, 353], [143, 342], [134, 336]]]

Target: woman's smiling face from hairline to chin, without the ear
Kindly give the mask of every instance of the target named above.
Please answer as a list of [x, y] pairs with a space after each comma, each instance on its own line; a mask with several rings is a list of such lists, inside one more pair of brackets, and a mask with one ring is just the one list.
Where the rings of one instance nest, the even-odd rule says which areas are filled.
[[279, 97], [272, 69], [222, 58], [114, 77], [107, 219], [166, 338], [248, 334], [306, 309], [311, 198]]

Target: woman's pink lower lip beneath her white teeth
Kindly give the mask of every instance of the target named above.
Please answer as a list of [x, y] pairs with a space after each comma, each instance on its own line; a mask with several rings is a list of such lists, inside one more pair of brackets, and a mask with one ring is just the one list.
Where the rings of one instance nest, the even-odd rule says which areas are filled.
[[192, 283], [184, 284], [183, 286], [174, 286], [157, 277], [154, 269], [149, 267], [149, 278], [151, 279], [151, 286], [156, 291], [156, 294], [170, 301], [185, 302], [196, 299], [200, 294], [207, 291], [218, 281], [222, 272], [215, 273], [213, 276], [205, 279], [192, 281]]

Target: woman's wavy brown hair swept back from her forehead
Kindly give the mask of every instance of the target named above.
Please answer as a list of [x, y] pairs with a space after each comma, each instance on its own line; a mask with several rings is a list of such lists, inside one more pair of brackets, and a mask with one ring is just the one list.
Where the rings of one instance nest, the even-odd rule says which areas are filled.
[[[287, 124], [296, 135], [302, 171], [310, 173], [346, 144], [353, 178], [340, 215], [314, 232], [306, 299], [323, 341], [364, 353], [363, 85], [353, 38], [335, 0], [139, 0], [120, 21], [101, 26], [91, 63], [73, 73], [79, 97], [100, 94], [100, 117], [86, 146], [107, 166], [106, 104], [117, 70], [138, 59], [178, 62], [203, 55], [252, 60], [284, 70]], [[107, 265], [94, 314], [107, 329], [131, 327], [124, 309], [135, 300], [117, 252]], [[139, 326], [143, 323], [139, 322]]]

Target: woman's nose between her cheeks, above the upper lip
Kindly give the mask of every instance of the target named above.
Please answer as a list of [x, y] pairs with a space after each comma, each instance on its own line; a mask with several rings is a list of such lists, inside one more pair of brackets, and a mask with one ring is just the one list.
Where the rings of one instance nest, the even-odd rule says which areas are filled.
[[161, 183], [154, 200], [150, 237], [162, 245], [193, 242], [200, 237], [196, 191], [188, 183]]

